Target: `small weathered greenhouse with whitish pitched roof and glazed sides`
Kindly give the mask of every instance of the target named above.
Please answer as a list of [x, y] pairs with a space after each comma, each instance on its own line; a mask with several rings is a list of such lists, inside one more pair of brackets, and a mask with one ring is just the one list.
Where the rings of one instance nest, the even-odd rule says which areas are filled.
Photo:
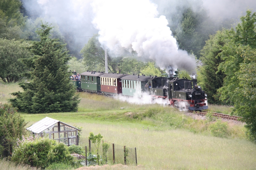
[[81, 131], [80, 129], [49, 117], [34, 123], [28, 127], [27, 130], [30, 131], [31, 135], [49, 137], [49, 139], [65, 143], [67, 146], [78, 145], [78, 131]]

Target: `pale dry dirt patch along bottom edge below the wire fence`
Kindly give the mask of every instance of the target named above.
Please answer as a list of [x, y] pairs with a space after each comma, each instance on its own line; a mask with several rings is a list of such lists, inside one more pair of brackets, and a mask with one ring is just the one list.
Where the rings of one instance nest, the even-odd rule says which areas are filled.
[[75, 170], [107, 170], [107, 169], [145, 169], [144, 166], [138, 165], [138, 166], [127, 166], [127, 165], [122, 165], [122, 164], [116, 164], [116, 165], [103, 165], [103, 166], [83, 166]]

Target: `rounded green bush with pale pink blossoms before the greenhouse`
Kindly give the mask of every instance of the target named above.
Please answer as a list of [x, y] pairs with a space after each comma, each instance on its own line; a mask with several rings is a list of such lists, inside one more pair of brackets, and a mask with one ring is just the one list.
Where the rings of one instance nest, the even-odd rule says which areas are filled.
[[11, 160], [17, 164], [28, 164], [45, 169], [52, 163], [73, 164], [73, 157], [64, 143], [46, 138], [27, 138], [14, 148]]

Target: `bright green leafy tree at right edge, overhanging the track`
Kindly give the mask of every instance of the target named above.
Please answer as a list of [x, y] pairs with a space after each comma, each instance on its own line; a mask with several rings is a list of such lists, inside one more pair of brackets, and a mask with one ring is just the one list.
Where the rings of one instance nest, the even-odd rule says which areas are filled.
[[243, 117], [249, 134], [256, 141], [256, 13], [246, 11], [236, 30], [228, 31], [230, 41], [220, 53], [218, 69], [225, 73], [223, 86], [218, 89], [221, 100], [234, 103], [234, 112]]

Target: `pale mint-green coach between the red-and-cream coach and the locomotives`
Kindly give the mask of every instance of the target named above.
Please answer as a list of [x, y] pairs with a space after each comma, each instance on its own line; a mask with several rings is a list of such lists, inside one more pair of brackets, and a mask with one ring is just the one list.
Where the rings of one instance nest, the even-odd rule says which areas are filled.
[[120, 78], [123, 95], [141, 97], [142, 92], [147, 92], [146, 84], [149, 78], [151, 77], [144, 75], [127, 75]]

